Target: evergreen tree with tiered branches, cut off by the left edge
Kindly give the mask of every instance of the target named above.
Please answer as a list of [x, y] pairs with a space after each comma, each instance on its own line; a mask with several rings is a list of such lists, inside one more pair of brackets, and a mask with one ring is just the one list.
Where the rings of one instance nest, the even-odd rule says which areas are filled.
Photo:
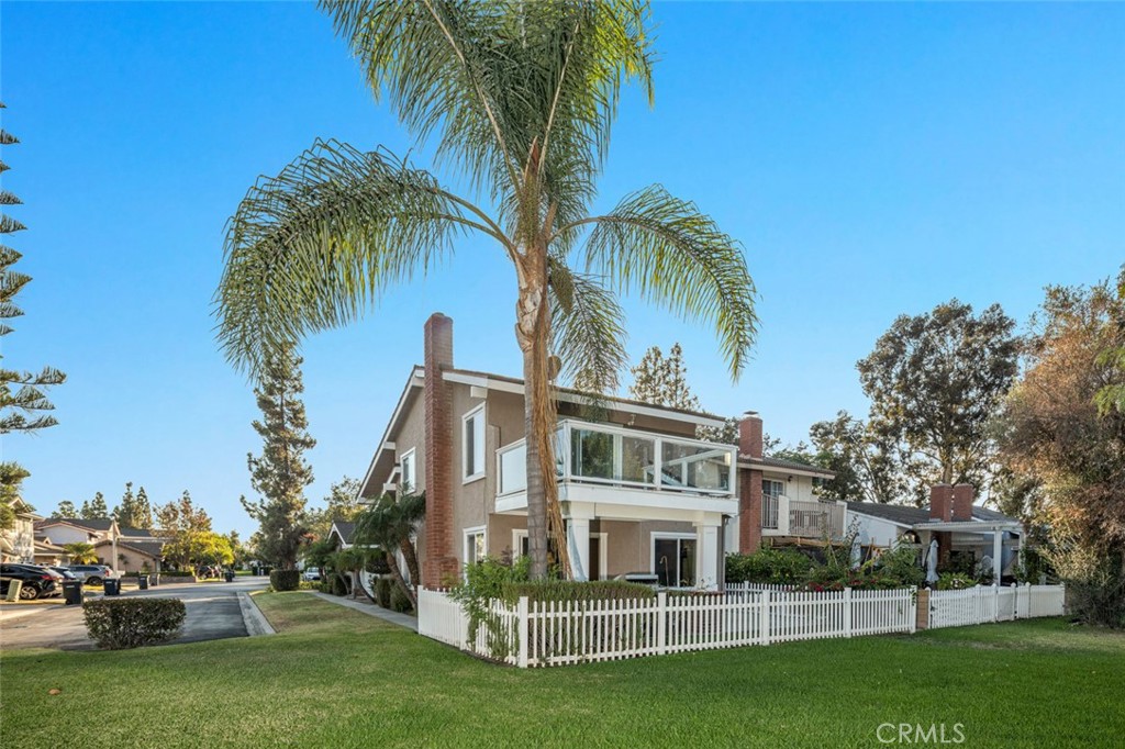
[[[0, 109], [3, 109], [2, 102]], [[16, 143], [19, 143], [18, 138], [0, 129], [0, 145]], [[8, 165], [0, 161], [0, 173], [6, 171]], [[0, 190], [0, 206], [18, 206], [20, 202], [11, 192]], [[0, 214], [0, 235], [25, 228], [27, 227], [15, 218]], [[12, 332], [8, 321], [24, 314], [14, 300], [32, 277], [11, 269], [20, 258], [20, 253], [0, 244], [0, 336]], [[35, 432], [54, 426], [57, 423], [55, 417], [45, 413], [53, 410], [54, 405], [47, 400], [44, 388], [61, 385], [65, 379], [65, 374], [52, 367], [44, 367], [39, 372], [0, 367], [0, 434]]]

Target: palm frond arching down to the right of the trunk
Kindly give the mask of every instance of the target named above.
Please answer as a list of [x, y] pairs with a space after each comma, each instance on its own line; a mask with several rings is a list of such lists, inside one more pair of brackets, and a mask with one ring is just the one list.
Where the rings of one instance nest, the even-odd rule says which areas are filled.
[[731, 376], [741, 374], [757, 315], [754, 281], [738, 242], [695, 204], [662, 186], [633, 192], [610, 214], [574, 222], [559, 234], [574, 236], [586, 225], [593, 226], [584, 249], [587, 272], [713, 325]]

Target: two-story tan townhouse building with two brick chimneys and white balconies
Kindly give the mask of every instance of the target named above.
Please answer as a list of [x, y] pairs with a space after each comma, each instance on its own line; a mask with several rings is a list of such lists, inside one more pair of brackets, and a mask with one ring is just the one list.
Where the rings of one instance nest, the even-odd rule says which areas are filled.
[[[457, 369], [452, 321], [430, 317], [424, 363], [412, 370], [360, 488], [367, 500], [425, 490], [417, 539], [425, 587], [486, 554], [526, 553], [523, 392], [520, 379]], [[578, 579], [646, 572], [713, 588], [726, 552], [760, 544], [764, 491], [790, 511], [843, 522], [842, 506], [812, 497], [813, 479], [830, 472], [763, 458], [757, 414], [742, 418], [731, 445], [695, 439], [699, 426], [722, 426], [711, 414], [623, 398], [592, 409], [567, 388], [557, 399], [559, 503]], [[788, 530], [810, 532], [811, 521], [794, 517]]]

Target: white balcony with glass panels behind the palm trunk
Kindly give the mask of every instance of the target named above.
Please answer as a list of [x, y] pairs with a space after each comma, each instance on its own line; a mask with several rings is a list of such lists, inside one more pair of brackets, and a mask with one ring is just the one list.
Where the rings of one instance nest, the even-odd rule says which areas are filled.
[[[559, 498], [732, 512], [735, 453], [728, 444], [562, 419], [555, 436]], [[524, 440], [496, 451], [500, 512], [526, 507], [526, 454]]]

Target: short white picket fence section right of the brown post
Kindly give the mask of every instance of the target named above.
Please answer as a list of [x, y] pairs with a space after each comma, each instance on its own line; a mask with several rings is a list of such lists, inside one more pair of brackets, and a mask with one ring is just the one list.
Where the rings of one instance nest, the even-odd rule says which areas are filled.
[[963, 590], [932, 590], [929, 629], [1010, 622], [1033, 616], [1061, 616], [1062, 585], [976, 586]]

